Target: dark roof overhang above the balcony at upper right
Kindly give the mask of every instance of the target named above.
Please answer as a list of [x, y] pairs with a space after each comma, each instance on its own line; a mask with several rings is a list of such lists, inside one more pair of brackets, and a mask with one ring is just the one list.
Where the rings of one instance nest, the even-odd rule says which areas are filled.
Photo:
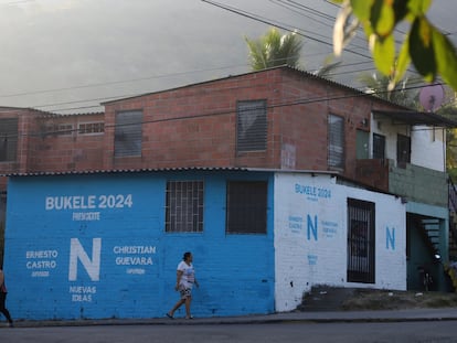
[[410, 110], [373, 110], [374, 116], [383, 116], [392, 119], [396, 125], [433, 126], [440, 128], [457, 128], [457, 121], [432, 112]]

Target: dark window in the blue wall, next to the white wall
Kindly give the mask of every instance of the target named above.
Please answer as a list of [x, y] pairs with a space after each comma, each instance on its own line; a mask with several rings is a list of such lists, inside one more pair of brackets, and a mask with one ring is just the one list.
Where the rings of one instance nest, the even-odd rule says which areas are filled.
[[227, 183], [227, 234], [266, 234], [267, 182]]

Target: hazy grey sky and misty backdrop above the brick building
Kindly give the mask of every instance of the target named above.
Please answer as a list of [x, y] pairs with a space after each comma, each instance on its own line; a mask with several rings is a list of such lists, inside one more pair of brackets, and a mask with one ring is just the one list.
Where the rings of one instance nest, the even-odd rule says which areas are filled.
[[[0, 106], [91, 112], [113, 97], [245, 73], [244, 36], [273, 24], [304, 35], [304, 69], [331, 54], [338, 8], [325, 0], [214, 2], [257, 21], [201, 0], [0, 0]], [[429, 14], [454, 44], [456, 6], [435, 0]], [[372, 69], [366, 55], [354, 40], [334, 79]]]

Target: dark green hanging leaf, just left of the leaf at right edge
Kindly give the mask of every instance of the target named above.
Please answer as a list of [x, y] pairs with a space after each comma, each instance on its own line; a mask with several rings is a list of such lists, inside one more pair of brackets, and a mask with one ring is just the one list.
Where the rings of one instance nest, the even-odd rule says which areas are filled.
[[437, 72], [435, 51], [432, 43], [433, 26], [425, 17], [414, 20], [410, 32], [410, 55], [417, 72], [433, 82]]

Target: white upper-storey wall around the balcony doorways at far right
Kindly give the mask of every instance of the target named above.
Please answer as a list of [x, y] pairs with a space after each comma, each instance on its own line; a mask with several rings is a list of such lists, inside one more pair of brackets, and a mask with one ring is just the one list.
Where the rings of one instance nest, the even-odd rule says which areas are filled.
[[[446, 169], [446, 132], [443, 128], [427, 126], [394, 125], [387, 118], [374, 118], [371, 122], [372, 133], [385, 136], [385, 156], [396, 162], [396, 136], [411, 137], [411, 163], [436, 171]], [[370, 146], [373, 147], [371, 137]], [[372, 149], [370, 149], [372, 157]]]

